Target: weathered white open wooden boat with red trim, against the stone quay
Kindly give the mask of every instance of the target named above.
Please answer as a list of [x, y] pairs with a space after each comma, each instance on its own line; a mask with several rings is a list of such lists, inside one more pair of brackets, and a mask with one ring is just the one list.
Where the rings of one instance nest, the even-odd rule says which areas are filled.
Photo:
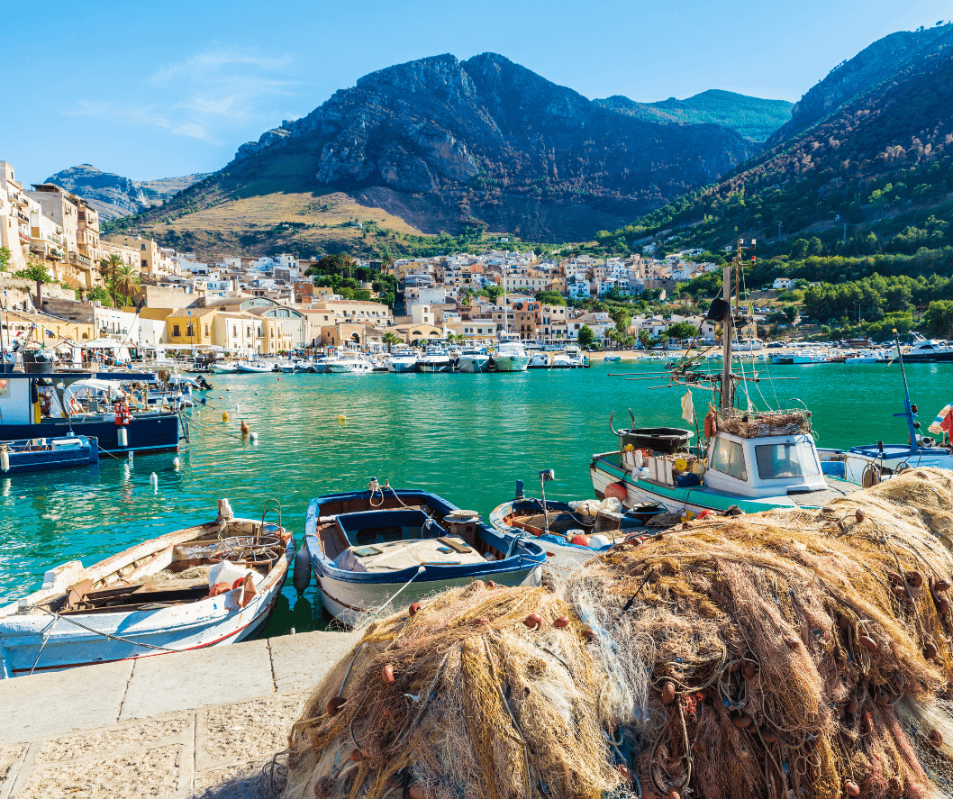
[[[278, 522], [265, 522], [277, 510]], [[84, 566], [48, 571], [38, 591], [0, 607], [0, 677], [235, 644], [267, 622], [294, 559], [269, 501], [260, 521], [228, 500], [213, 522]]]

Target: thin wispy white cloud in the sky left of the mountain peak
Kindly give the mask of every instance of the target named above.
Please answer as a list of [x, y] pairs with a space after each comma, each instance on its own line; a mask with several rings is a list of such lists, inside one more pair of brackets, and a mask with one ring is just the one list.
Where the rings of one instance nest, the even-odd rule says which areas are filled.
[[283, 98], [296, 83], [293, 68], [291, 56], [207, 51], [161, 67], [134, 96], [80, 100], [72, 113], [168, 128], [211, 144], [233, 139], [242, 129], [257, 137], [276, 124], [278, 103], [287, 102]]

